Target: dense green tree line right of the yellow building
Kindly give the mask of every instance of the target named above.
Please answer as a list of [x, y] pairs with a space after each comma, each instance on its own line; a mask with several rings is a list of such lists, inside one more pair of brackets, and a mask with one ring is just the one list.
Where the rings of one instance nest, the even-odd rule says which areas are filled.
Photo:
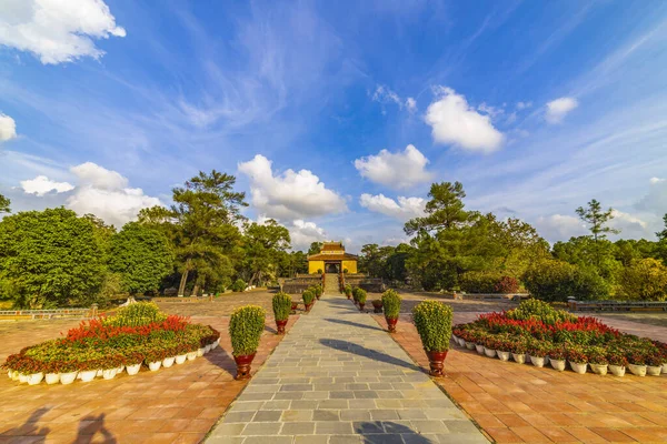
[[364, 245], [361, 271], [425, 290], [521, 290], [549, 301], [667, 296], [667, 214], [658, 241], [611, 242], [614, 212], [591, 200], [575, 210], [590, 234], [551, 246], [526, 222], [467, 210], [460, 182], [434, 183], [428, 196], [426, 215], [405, 225], [410, 244]]

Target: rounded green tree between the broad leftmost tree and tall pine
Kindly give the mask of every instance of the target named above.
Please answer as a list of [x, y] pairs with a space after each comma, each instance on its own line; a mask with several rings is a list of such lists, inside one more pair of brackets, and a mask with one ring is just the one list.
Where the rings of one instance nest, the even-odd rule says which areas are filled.
[[120, 274], [122, 290], [131, 294], [158, 290], [173, 260], [167, 236], [148, 225], [129, 222], [111, 238], [109, 270]]

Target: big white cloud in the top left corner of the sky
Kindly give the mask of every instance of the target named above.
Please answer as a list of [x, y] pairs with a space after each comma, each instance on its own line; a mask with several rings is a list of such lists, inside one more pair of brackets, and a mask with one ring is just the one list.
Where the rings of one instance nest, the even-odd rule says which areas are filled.
[[4, 0], [0, 44], [34, 53], [43, 64], [99, 59], [93, 39], [125, 37], [102, 0]]

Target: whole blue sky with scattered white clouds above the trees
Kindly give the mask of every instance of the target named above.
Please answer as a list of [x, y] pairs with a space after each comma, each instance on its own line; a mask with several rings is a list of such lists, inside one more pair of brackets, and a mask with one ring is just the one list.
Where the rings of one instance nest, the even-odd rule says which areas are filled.
[[432, 181], [549, 241], [667, 213], [663, 1], [50, 3], [0, 0], [14, 211], [120, 225], [215, 168], [299, 248], [405, 241]]

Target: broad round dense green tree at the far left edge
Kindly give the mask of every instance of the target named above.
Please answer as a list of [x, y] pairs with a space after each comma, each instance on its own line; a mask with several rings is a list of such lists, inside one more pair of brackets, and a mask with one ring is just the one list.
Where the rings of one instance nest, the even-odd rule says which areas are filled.
[[104, 248], [88, 218], [63, 208], [26, 211], [0, 221], [0, 287], [17, 307], [97, 302]]

